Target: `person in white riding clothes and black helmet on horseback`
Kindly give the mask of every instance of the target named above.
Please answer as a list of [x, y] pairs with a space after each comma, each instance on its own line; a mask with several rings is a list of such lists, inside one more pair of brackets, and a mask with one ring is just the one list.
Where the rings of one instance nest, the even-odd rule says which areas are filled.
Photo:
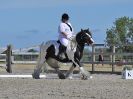
[[71, 39], [73, 35], [73, 27], [69, 22], [69, 16], [67, 13], [62, 14], [61, 23], [58, 27], [58, 33], [59, 33], [59, 41], [62, 44], [62, 46], [60, 46], [61, 51], [59, 51], [59, 55], [60, 55], [61, 53], [66, 52], [69, 39]]

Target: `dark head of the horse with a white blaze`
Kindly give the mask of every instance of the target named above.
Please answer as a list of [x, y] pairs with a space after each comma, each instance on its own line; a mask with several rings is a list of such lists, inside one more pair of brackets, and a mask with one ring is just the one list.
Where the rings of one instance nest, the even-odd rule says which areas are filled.
[[81, 31], [76, 36], [76, 41], [78, 43], [87, 43], [88, 45], [93, 44], [94, 40], [92, 39], [92, 34], [89, 29], [81, 29]]

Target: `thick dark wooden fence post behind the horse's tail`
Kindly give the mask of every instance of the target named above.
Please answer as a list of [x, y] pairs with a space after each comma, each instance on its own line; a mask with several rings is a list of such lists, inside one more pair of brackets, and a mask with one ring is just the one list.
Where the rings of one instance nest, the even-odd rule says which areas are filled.
[[7, 66], [6, 71], [8, 73], [12, 73], [11, 55], [12, 55], [12, 47], [11, 47], [11, 45], [8, 45], [7, 46], [7, 51], [6, 51], [6, 66]]

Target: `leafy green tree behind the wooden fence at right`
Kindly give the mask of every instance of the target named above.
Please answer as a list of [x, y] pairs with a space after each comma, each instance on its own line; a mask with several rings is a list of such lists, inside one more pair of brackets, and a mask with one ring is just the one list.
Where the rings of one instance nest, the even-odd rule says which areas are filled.
[[133, 44], [133, 18], [121, 17], [116, 19], [114, 26], [106, 31], [106, 43], [109, 47], [116, 45], [118, 49], [133, 51], [133, 46], [124, 46]]

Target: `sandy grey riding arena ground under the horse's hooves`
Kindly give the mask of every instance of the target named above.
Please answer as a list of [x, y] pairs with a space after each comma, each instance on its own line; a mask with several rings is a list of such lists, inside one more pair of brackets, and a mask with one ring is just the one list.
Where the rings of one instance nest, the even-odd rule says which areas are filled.
[[[14, 67], [13, 74], [31, 74], [31, 68]], [[0, 74], [7, 74], [4, 70]], [[0, 99], [133, 99], [133, 80], [116, 74], [92, 74], [80, 80], [58, 79], [47, 74], [47, 79], [0, 78]]]

